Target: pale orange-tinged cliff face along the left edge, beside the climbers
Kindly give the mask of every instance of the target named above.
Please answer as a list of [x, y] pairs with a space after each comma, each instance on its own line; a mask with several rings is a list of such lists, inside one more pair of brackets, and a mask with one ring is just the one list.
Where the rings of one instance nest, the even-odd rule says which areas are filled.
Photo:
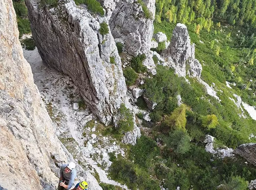
[[23, 57], [11, 0], [0, 0], [0, 15], [0, 183], [39, 190], [58, 181], [53, 158], [67, 157]]

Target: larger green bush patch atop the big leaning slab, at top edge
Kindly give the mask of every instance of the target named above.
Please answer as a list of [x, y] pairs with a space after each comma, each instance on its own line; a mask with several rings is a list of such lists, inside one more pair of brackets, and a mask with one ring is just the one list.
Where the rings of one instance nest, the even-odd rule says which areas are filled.
[[[104, 10], [97, 0], [74, 0], [77, 5], [85, 4], [87, 9], [93, 14], [104, 16]], [[102, 34], [103, 35], [103, 34]]]

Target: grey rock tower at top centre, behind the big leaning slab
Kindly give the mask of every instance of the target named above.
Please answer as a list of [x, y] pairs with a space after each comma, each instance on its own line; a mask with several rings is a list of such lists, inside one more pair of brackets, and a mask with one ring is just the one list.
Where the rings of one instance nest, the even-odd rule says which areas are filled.
[[124, 50], [132, 56], [146, 55], [144, 65], [154, 70], [155, 64], [150, 52], [154, 31], [155, 0], [143, 1], [152, 13], [146, 18], [142, 6], [134, 0], [119, 1], [109, 20], [109, 26], [116, 41], [124, 45]]

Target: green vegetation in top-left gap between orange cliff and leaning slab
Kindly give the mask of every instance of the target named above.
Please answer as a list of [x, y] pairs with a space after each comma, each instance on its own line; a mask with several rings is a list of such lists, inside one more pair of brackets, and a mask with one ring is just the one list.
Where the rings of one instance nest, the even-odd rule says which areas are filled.
[[20, 1], [13, 0], [12, 3], [17, 16], [19, 37], [21, 37], [23, 34], [28, 34], [31, 32], [30, 22], [27, 16], [27, 7], [25, 5], [24, 0], [20, 0]]

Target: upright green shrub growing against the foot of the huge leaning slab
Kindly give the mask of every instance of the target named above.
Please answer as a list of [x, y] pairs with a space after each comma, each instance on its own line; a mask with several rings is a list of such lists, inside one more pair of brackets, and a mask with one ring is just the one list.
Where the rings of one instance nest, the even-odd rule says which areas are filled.
[[133, 114], [124, 104], [120, 105], [119, 108], [120, 120], [118, 121], [117, 132], [124, 134], [127, 131], [131, 131], [134, 127]]

